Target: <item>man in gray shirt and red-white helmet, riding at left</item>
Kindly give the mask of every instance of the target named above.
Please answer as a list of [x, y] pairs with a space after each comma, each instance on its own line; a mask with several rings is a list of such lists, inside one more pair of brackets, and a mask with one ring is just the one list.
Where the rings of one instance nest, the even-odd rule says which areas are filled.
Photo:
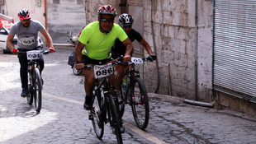
[[[12, 51], [12, 53], [17, 53], [17, 50], [19, 51], [29, 51], [29, 50], [38, 50], [40, 48], [40, 44], [38, 42], [38, 31], [42, 35], [44, 35], [46, 39], [46, 44], [49, 44], [49, 50], [55, 51], [53, 48], [53, 41], [47, 32], [45, 30], [45, 27], [42, 26], [42, 24], [39, 21], [31, 20], [31, 12], [27, 9], [22, 9], [20, 12], [18, 12], [18, 17], [20, 21], [17, 21], [10, 30], [10, 33], [7, 37], [7, 47]], [[14, 48], [14, 45], [12, 44], [12, 40], [14, 36], [17, 35], [17, 49]], [[21, 96], [26, 97], [28, 95], [27, 91], [27, 58], [25, 53], [19, 53], [18, 55], [19, 62], [21, 65], [21, 87], [22, 92]], [[44, 69], [44, 58], [41, 54], [40, 56], [40, 72]]]

